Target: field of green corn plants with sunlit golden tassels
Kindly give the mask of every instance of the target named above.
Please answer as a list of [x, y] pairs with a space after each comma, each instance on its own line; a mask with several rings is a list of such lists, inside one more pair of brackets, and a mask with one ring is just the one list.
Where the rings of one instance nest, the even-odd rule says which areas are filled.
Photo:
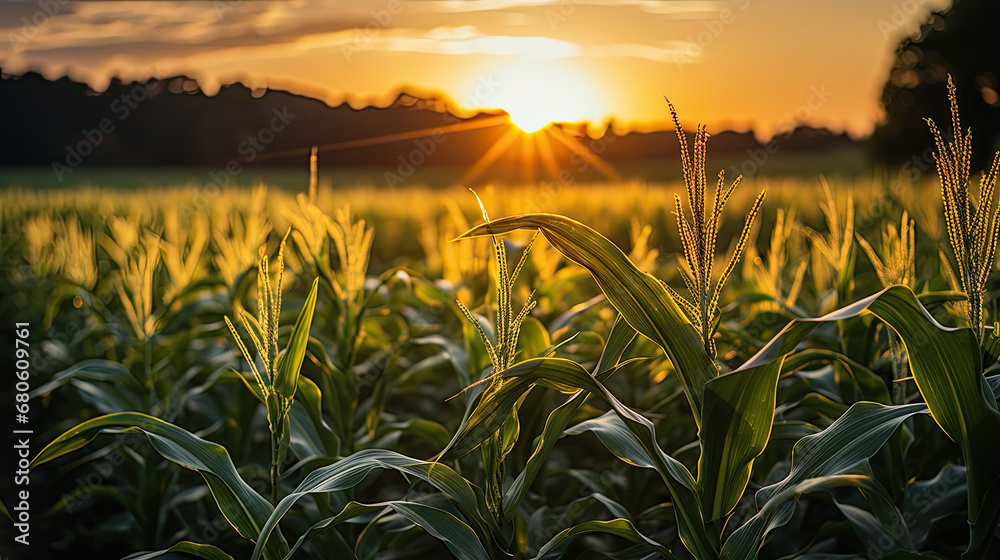
[[32, 536], [131, 559], [995, 558], [1000, 155], [971, 176], [950, 101], [920, 177], [710, 184], [708, 135], [678, 124], [683, 184], [541, 202], [0, 193]]

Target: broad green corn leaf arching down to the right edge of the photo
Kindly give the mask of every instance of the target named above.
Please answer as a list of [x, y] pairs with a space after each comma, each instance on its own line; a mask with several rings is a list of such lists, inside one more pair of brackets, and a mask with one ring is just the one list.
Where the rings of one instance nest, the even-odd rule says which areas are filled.
[[[872, 312], [900, 335], [931, 415], [962, 446], [970, 465], [970, 480], [978, 480], [969, 487], [970, 503], [975, 502], [969, 509], [973, 526], [970, 549], [978, 547], [992, 534], [1000, 515], [997, 500], [987, 501], [989, 491], [1000, 491], [1000, 485], [993, 486], [1000, 479], [1000, 452], [985, 441], [978, 445], [974, 441], [1000, 430], [1000, 414], [982, 376], [972, 331], [938, 324], [905, 286], [886, 288], [819, 319], [792, 321], [740, 369], [708, 383], [701, 429], [712, 437], [702, 439], [698, 461], [706, 519], [720, 519], [732, 511], [749, 481], [753, 459], [767, 445], [784, 356], [818, 324], [864, 311]], [[981, 478], [974, 478], [973, 471], [981, 473]], [[977, 528], [979, 509], [985, 504], [997, 505], [988, 506], [988, 518]]]

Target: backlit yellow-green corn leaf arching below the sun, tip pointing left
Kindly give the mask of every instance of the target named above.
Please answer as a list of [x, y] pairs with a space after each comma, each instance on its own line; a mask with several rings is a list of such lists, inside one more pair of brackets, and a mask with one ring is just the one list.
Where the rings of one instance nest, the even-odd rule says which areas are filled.
[[718, 368], [705, 352], [694, 325], [667, 293], [665, 285], [642, 272], [614, 243], [580, 222], [554, 214], [522, 214], [493, 220], [458, 239], [537, 229], [566, 258], [590, 271], [608, 301], [629, 325], [660, 346], [670, 357], [701, 424], [702, 393]]

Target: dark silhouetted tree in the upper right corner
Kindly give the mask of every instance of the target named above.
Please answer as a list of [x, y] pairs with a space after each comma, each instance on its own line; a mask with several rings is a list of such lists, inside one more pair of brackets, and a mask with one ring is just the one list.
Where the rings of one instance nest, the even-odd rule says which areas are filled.
[[[879, 22], [893, 33], [917, 0], [896, 6], [892, 21]], [[987, 167], [1000, 137], [1000, 2], [956, 0], [932, 13], [919, 33], [904, 38], [882, 90], [885, 120], [872, 136], [876, 158], [898, 164], [913, 157], [929, 158], [931, 135], [925, 117], [949, 123], [947, 75], [958, 86], [962, 127], [973, 128], [974, 169]], [[946, 134], [951, 134], [946, 129]]]

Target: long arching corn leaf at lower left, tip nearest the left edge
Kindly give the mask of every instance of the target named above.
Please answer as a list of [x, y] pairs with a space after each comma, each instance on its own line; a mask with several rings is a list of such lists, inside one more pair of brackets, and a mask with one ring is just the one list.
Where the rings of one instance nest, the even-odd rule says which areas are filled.
[[[57, 437], [31, 461], [38, 468], [87, 445], [101, 432], [122, 433], [138, 430], [165, 459], [198, 471], [208, 484], [215, 502], [236, 531], [256, 540], [271, 514], [271, 504], [254, 491], [236, 472], [229, 453], [221, 445], [203, 440], [191, 432], [158, 418], [138, 412], [119, 412], [87, 420]], [[268, 544], [267, 557], [281, 558], [288, 545], [279, 533]]]

